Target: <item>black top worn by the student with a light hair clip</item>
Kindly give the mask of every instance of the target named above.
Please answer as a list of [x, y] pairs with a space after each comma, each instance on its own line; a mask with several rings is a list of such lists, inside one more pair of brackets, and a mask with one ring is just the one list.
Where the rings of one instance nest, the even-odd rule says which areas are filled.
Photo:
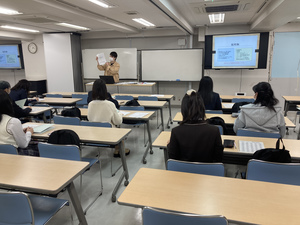
[[173, 128], [168, 145], [170, 159], [190, 162], [222, 162], [223, 149], [219, 128], [204, 122]]

